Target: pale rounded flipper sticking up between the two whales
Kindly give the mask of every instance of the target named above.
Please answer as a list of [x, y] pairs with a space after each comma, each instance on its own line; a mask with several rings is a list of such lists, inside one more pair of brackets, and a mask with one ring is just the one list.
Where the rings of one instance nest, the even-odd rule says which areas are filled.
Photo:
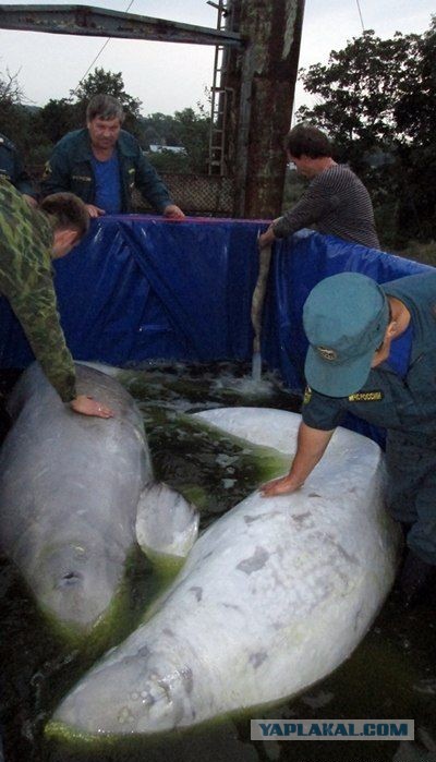
[[136, 539], [156, 564], [181, 563], [198, 535], [196, 508], [167, 484], [149, 484], [141, 493], [136, 513]]

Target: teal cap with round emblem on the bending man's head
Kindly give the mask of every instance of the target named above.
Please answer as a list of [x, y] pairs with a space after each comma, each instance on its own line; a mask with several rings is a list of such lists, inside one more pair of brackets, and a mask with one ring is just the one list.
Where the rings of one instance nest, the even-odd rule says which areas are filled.
[[303, 310], [307, 384], [328, 397], [361, 389], [388, 322], [385, 292], [366, 275], [340, 273], [317, 283]]

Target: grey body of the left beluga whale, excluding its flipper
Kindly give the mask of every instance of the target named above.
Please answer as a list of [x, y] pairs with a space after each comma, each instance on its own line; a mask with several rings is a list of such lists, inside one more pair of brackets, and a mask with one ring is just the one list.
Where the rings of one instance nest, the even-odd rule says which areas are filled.
[[110, 376], [76, 365], [78, 394], [116, 415], [78, 415], [37, 363], [10, 399], [0, 451], [0, 543], [43, 610], [88, 634], [113, 601], [136, 545], [135, 521], [152, 464], [141, 413]]

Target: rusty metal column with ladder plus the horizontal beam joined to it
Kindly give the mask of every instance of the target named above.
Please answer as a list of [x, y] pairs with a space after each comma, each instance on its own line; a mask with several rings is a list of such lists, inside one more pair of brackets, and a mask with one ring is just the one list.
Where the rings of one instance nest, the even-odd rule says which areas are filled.
[[[208, 0], [209, 1], [209, 0]], [[217, 0], [217, 28], [92, 5], [0, 5], [0, 28], [215, 45], [209, 176], [233, 182], [231, 214], [280, 214], [304, 0]], [[213, 178], [210, 177], [210, 181]]]

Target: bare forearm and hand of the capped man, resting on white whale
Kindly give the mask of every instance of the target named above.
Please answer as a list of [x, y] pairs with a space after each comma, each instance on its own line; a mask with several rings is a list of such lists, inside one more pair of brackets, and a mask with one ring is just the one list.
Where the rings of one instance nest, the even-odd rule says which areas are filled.
[[301, 487], [315, 465], [322, 459], [331, 439], [335, 430], [325, 432], [319, 428], [312, 428], [307, 424], [300, 424], [296, 440], [296, 453], [289, 473], [281, 479], [275, 479], [261, 487], [264, 497], [283, 495], [295, 492]]

